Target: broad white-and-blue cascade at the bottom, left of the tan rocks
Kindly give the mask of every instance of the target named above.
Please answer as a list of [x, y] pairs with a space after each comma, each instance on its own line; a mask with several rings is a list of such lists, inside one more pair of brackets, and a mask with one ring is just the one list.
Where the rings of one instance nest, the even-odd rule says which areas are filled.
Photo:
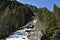
[[23, 30], [18, 30], [14, 32], [12, 35], [6, 38], [6, 40], [29, 40], [27, 38], [28, 32], [26, 30], [31, 30], [31, 29], [23, 29]]

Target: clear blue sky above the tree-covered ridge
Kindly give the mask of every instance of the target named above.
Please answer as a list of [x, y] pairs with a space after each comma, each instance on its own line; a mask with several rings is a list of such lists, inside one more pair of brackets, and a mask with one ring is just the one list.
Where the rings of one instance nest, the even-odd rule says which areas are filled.
[[60, 0], [17, 0], [23, 4], [34, 5], [37, 8], [46, 7], [48, 10], [53, 11], [53, 4], [55, 3], [60, 7]]

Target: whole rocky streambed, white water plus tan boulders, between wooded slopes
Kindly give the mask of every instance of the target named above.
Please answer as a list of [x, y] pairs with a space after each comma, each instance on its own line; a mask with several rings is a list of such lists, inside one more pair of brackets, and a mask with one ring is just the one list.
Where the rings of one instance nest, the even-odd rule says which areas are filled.
[[25, 25], [28, 27], [11, 33], [5, 40], [40, 40], [43, 34], [37, 30], [36, 23], [37, 19], [32, 20]]

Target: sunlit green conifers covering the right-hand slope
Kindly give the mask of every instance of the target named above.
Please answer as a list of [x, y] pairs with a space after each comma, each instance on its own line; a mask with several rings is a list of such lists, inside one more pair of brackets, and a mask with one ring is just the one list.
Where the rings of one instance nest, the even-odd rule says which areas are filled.
[[53, 12], [46, 8], [41, 8], [37, 16], [43, 23], [44, 34], [50, 40], [60, 40], [60, 8], [55, 4]]

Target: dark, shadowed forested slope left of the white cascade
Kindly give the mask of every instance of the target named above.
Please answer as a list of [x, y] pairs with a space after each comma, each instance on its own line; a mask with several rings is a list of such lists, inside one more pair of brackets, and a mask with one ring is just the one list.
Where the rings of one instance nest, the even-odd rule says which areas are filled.
[[17, 1], [0, 0], [0, 38], [20, 29], [34, 16], [30, 8]]

